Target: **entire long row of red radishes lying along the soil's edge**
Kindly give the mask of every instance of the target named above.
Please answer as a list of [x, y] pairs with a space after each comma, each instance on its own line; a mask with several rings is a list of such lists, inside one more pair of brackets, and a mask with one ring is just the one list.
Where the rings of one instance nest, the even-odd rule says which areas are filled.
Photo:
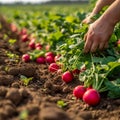
[[[17, 34], [20, 35], [20, 39], [22, 42], [27, 42], [28, 47], [34, 50], [42, 50], [43, 45], [40, 43], [36, 43], [36, 39], [34, 37], [30, 37], [27, 33], [27, 29], [23, 28], [20, 32], [18, 31], [17, 27], [14, 24], [11, 24], [11, 31], [16, 32]], [[62, 73], [62, 68], [61, 65], [58, 64], [60, 55], [55, 55], [53, 52], [49, 51], [50, 46], [47, 45], [45, 47], [46, 53], [44, 53], [41, 56], [38, 56], [35, 61], [38, 64], [48, 64], [48, 69], [50, 72], [57, 72], [57, 73]], [[30, 62], [31, 61], [31, 56], [30, 54], [26, 53], [22, 56], [22, 61], [23, 62]], [[81, 72], [84, 72], [86, 70], [86, 67], [84, 66], [83, 68], [79, 69], [74, 69], [73, 71], [65, 71], [62, 73], [62, 80], [65, 83], [69, 83], [74, 79], [74, 74], [80, 74]], [[83, 85], [76, 86], [73, 90], [73, 95], [77, 99], [82, 99], [85, 103], [88, 105], [95, 106], [99, 104], [100, 102], [100, 94], [97, 90], [93, 88], [86, 88]]]

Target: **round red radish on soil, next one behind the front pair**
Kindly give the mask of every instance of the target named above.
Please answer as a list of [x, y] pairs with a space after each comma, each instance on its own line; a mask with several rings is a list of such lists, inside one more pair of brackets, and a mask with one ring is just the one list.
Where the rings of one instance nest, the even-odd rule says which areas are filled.
[[66, 83], [73, 80], [73, 74], [70, 71], [66, 71], [62, 74], [62, 80]]

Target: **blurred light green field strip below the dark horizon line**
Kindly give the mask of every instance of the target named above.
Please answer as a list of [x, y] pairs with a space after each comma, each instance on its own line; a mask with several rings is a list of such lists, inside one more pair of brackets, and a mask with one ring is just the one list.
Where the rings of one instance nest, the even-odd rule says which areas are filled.
[[24, 13], [28, 13], [30, 11], [38, 11], [38, 12], [59, 12], [59, 13], [75, 13], [78, 11], [88, 12], [90, 10], [90, 4], [68, 4], [68, 5], [1, 5], [0, 13], [6, 14], [10, 16], [11, 13], [22, 11]]

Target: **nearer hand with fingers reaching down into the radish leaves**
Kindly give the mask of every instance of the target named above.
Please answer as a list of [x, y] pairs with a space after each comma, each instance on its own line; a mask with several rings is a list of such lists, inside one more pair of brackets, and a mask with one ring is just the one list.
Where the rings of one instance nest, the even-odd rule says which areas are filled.
[[101, 19], [96, 20], [89, 26], [85, 35], [84, 52], [95, 52], [97, 49], [102, 50], [108, 47], [108, 41], [112, 35], [114, 26]]

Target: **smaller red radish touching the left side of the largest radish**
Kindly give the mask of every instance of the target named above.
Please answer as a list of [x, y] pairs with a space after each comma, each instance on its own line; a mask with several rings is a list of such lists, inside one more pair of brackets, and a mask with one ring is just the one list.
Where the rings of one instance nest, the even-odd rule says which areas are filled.
[[82, 85], [79, 85], [77, 87], [74, 88], [73, 90], [73, 95], [76, 97], [76, 98], [80, 98], [82, 99], [84, 93], [86, 92], [86, 88]]

